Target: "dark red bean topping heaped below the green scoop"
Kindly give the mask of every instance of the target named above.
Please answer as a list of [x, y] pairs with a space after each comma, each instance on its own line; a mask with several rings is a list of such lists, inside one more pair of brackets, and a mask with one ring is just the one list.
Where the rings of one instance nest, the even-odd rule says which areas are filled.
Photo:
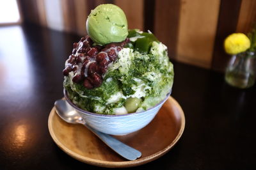
[[[109, 63], [116, 60], [117, 53], [128, 42], [129, 38], [125, 39], [124, 42], [93, 46], [90, 36], [82, 37], [78, 43], [73, 44], [72, 55], [67, 60], [68, 64], [63, 70], [63, 75], [68, 76], [69, 72], [74, 71], [73, 82], [80, 83], [83, 81], [83, 86], [87, 89], [99, 87], [102, 84], [104, 73], [108, 71]], [[93, 58], [96, 62], [93, 62]], [[91, 63], [88, 66], [89, 62]], [[88, 66], [87, 69], [86, 66]], [[85, 70], [87, 70], [86, 75], [84, 75]]]

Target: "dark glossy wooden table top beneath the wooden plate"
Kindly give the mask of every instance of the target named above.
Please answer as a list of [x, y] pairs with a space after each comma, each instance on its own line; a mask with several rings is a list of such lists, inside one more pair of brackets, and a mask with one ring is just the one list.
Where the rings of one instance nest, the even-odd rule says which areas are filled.
[[[0, 169], [101, 169], [66, 155], [47, 127], [78, 40], [31, 24], [0, 27]], [[172, 96], [186, 116], [184, 134], [166, 155], [133, 169], [255, 169], [256, 86], [236, 89], [222, 73], [174, 68]]]

